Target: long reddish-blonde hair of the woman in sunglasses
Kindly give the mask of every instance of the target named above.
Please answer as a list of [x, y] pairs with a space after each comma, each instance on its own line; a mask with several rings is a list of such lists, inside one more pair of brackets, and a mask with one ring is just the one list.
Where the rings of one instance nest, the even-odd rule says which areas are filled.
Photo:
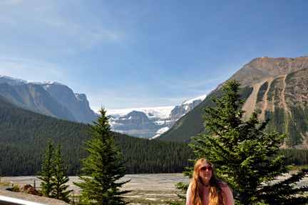
[[209, 194], [209, 204], [210, 205], [221, 205], [223, 201], [226, 200], [225, 193], [222, 191], [221, 186], [227, 186], [225, 181], [219, 180], [215, 176], [215, 166], [204, 158], [199, 159], [193, 171], [193, 180], [192, 180], [192, 198], [191, 203], [194, 205], [202, 205], [202, 202], [205, 200], [203, 196], [203, 186], [202, 180], [199, 176], [199, 168], [202, 166], [202, 163], [206, 162], [212, 166], [212, 176], [210, 178], [210, 194]]

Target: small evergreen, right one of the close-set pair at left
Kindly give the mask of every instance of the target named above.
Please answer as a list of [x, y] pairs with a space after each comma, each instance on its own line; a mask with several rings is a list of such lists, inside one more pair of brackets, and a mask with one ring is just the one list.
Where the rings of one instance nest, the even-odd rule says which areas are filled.
[[58, 142], [56, 152], [54, 154], [54, 166], [53, 166], [53, 191], [51, 193], [51, 197], [55, 199], [60, 199], [62, 201], [66, 201], [67, 203], [70, 201], [68, 196], [73, 190], [68, 190], [69, 185], [65, 185], [66, 182], [69, 181], [68, 176], [65, 175], [66, 169], [68, 166], [63, 167], [63, 159], [61, 153], [61, 142]]

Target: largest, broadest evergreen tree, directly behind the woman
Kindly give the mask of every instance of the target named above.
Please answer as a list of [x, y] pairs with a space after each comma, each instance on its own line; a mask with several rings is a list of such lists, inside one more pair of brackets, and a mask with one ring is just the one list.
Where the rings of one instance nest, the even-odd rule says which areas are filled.
[[[244, 100], [240, 100], [239, 89], [237, 81], [223, 86], [222, 99], [212, 99], [217, 107], [204, 109], [205, 130], [210, 134], [193, 137], [196, 143], [190, 146], [197, 156], [215, 164], [217, 177], [233, 189], [235, 204], [307, 204], [308, 196], [303, 194], [308, 186], [295, 188], [294, 185], [307, 176], [308, 169], [284, 181], [275, 181], [292, 168], [284, 165], [286, 156], [273, 157], [286, 134], [265, 133], [269, 119], [260, 121], [257, 111], [245, 121]], [[192, 173], [190, 168], [185, 175], [191, 177]], [[187, 185], [180, 185], [178, 188], [187, 190]]]

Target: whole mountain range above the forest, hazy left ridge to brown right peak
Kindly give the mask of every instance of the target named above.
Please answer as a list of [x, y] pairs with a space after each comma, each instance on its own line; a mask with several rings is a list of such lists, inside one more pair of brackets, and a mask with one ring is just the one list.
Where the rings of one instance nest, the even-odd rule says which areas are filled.
[[[282, 148], [308, 148], [308, 56], [252, 59], [227, 81], [233, 79], [242, 84], [246, 118], [256, 110], [261, 120], [271, 119], [266, 131], [289, 134]], [[148, 139], [191, 141], [191, 136], [206, 133], [202, 109], [215, 106], [210, 98], [221, 98], [224, 84], [207, 96], [179, 106], [108, 111], [111, 127]], [[0, 76], [0, 95], [16, 106], [59, 119], [91, 122], [97, 118], [86, 95], [74, 94], [68, 86], [56, 82]]]

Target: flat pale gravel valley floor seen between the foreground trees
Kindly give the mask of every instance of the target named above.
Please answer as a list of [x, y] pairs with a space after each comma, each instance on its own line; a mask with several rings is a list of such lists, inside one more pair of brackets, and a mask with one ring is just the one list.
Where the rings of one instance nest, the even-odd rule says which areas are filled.
[[[289, 177], [289, 174], [285, 176], [279, 176], [277, 182]], [[131, 179], [131, 181], [123, 186], [124, 190], [132, 190], [129, 194], [126, 194], [128, 201], [131, 204], [165, 204], [163, 201], [178, 199], [175, 193], [178, 190], [175, 189], [175, 184], [179, 181], [183, 181], [185, 184], [189, 184], [190, 179], [184, 178], [183, 174], [127, 174], [123, 177], [123, 181]], [[34, 185], [36, 181], [36, 188], [39, 189], [41, 181], [36, 176], [13, 176], [1, 178], [1, 181], [10, 181], [11, 184], [31, 184]], [[78, 176], [70, 176], [69, 189], [73, 189], [73, 194], [78, 195], [80, 189], [73, 185], [73, 181], [78, 181]], [[10, 184], [10, 185], [11, 185]], [[307, 186], [308, 178], [303, 179], [296, 186]], [[39, 197], [39, 196], [38, 196]]]

